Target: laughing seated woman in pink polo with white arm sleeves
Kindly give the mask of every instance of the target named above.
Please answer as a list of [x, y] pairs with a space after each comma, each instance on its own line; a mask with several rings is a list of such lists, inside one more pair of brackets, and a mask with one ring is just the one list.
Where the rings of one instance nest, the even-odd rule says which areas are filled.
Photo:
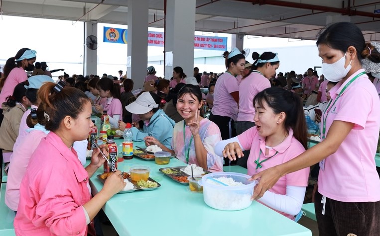
[[[270, 87], [257, 93], [253, 104], [256, 126], [215, 146], [217, 155], [231, 160], [251, 150], [249, 175], [286, 162], [307, 149], [306, 122], [297, 94]], [[302, 208], [308, 177], [309, 167], [282, 176], [259, 202], [294, 220]]]

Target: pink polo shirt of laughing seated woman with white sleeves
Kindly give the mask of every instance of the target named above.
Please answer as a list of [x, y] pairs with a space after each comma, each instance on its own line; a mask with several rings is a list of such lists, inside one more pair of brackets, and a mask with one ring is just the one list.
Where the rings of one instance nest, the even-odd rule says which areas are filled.
[[[261, 163], [262, 167], [257, 168], [257, 173], [275, 165], [282, 164], [305, 152], [305, 148], [301, 145], [301, 143], [298, 140], [294, 138], [292, 129], [289, 130], [288, 136], [282, 143], [275, 147], [272, 147], [272, 149], [269, 150], [268, 155], [265, 155], [265, 138], [258, 135], [256, 126], [250, 128], [241, 135], [238, 135], [238, 139], [244, 150], [251, 150], [250, 156], [248, 157], [247, 161], [248, 175], [255, 174], [256, 164], [254, 163], [254, 161], [257, 160], [257, 158], [259, 157], [260, 150], [261, 155], [259, 161], [262, 161], [263, 159], [269, 157], [270, 158]], [[276, 154], [276, 152], [278, 153]], [[286, 174], [285, 176], [279, 178], [278, 181], [273, 185], [273, 187], [270, 188], [268, 191], [276, 194], [285, 195], [286, 186], [288, 185], [303, 187], [307, 186], [309, 171], [310, 168], [307, 167], [295, 171], [293, 173]], [[279, 213], [290, 219], [294, 219], [294, 216], [285, 214], [283, 212]]]

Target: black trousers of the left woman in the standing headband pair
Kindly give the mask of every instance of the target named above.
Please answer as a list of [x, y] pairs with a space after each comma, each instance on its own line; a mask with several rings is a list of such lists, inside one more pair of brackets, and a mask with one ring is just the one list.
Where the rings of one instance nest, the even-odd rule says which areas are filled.
[[[222, 140], [236, 137], [235, 121], [231, 117], [211, 113], [209, 120], [219, 127]], [[230, 161], [228, 158], [224, 158], [224, 165], [236, 165], [236, 163], [237, 160]]]

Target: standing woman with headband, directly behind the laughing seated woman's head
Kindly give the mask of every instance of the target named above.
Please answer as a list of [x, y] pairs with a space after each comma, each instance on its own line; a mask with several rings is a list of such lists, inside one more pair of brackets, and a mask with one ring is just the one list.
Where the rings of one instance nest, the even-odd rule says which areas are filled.
[[[242, 79], [239, 85], [239, 114], [236, 121], [236, 133], [242, 134], [244, 131], [254, 126], [254, 107], [253, 97], [257, 93], [270, 87], [270, 77], [276, 73], [280, 66], [280, 60], [277, 53], [264, 52], [259, 55], [254, 52], [252, 54], [254, 60], [250, 72]], [[244, 153], [244, 157], [238, 159], [238, 165], [247, 168], [247, 158], [250, 151]]]

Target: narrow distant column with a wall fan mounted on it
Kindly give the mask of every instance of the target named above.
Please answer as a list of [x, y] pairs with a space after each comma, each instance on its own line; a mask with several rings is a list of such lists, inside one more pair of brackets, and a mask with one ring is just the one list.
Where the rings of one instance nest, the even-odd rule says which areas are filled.
[[[98, 25], [97, 23], [93, 22], [86, 22], [85, 23], [85, 44], [86, 39], [90, 35], [95, 35], [98, 37]], [[87, 75], [97, 75], [97, 67], [98, 67], [98, 50], [91, 50], [86, 45], [85, 47], [85, 66], [84, 66], [84, 76]]]

